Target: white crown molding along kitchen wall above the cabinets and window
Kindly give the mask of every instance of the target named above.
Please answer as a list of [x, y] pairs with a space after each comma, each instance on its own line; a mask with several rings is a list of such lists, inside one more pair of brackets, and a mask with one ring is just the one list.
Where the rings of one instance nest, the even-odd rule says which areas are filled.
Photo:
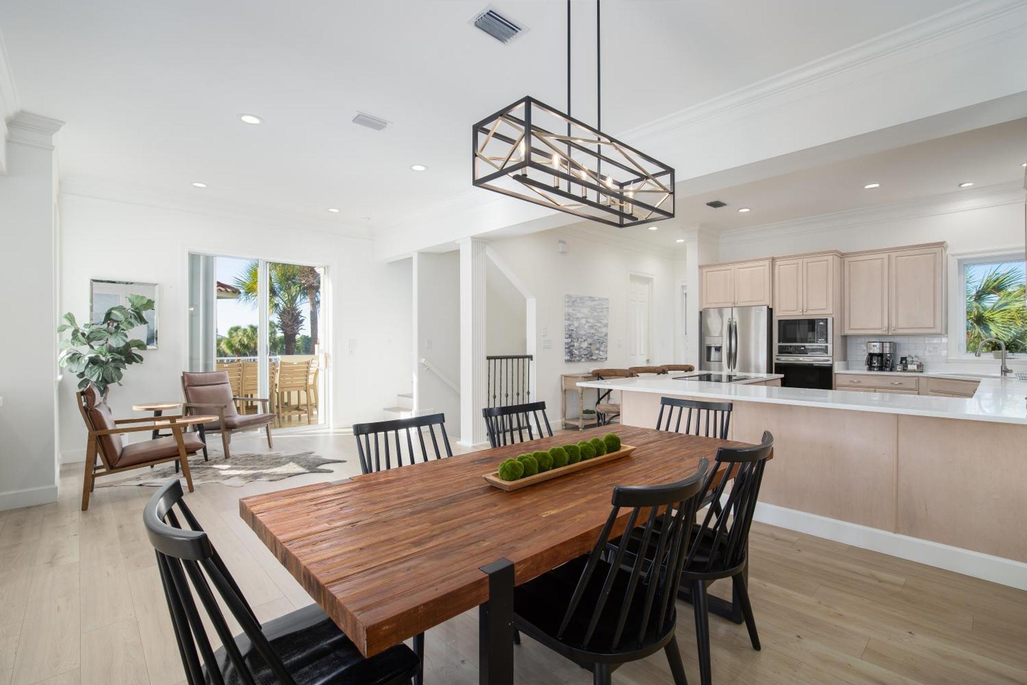
[[791, 221], [764, 224], [746, 229], [720, 233], [721, 245], [736, 245], [752, 241], [802, 236], [824, 231], [840, 231], [872, 224], [883, 224], [925, 216], [939, 216], [972, 209], [1023, 204], [1027, 192], [1020, 182], [987, 186], [973, 193], [960, 191], [935, 195], [907, 202], [896, 202], [876, 207], [861, 207], [845, 211], [806, 216]]

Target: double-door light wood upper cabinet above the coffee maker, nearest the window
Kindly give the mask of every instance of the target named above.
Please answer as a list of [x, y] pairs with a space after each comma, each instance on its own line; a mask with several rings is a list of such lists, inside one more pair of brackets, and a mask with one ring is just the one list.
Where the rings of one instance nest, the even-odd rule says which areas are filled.
[[846, 335], [945, 333], [945, 246], [846, 255]]

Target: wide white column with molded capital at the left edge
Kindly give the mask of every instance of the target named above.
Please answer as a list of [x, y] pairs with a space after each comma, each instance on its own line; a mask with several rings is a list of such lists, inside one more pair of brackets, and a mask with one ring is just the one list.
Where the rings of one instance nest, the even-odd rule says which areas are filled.
[[[7, 122], [0, 176], [0, 510], [58, 498], [58, 226], [53, 134], [63, 121], [21, 112]], [[69, 258], [75, 258], [70, 255]], [[88, 283], [82, 287], [88, 287]]]

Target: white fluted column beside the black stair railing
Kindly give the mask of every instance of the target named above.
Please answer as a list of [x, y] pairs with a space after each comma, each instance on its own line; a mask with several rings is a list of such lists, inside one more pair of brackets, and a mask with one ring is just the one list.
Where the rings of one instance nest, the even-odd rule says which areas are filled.
[[460, 244], [460, 444], [488, 441], [482, 409], [487, 403], [485, 364], [485, 254], [488, 242], [464, 238]]

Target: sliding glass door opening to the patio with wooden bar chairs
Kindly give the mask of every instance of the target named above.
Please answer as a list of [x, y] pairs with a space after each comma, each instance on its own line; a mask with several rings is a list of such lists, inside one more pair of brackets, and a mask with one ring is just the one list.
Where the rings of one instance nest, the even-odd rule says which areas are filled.
[[324, 282], [322, 267], [190, 254], [189, 369], [225, 370], [237, 396], [269, 397], [282, 427], [326, 422]]

